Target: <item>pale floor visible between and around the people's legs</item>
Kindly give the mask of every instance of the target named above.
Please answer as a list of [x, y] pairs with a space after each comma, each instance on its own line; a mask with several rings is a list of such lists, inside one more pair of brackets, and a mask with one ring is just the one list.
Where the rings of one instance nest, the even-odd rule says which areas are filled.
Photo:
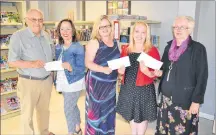
[[[81, 111], [81, 128], [84, 128], [85, 122], [85, 91], [81, 95], [78, 106]], [[36, 134], [38, 134], [36, 127], [35, 115], [34, 115], [34, 127]], [[200, 119], [200, 131], [199, 135], [212, 135], [212, 125], [213, 122], [205, 119]], [[146, 135], [153, 135], [155, 129], [155, 122], [149, 124]], [[56, 135], [66, 135], [67, 126], [64, 116], [63, 109], [63, 97], [58, 94], [55, 90], [52, 92], [51, 102], [50, 102], [50, 131], [54, 132]], [[1, 120], [1, 135], [21, 135], [21, 123], [20, 116], [12, 117], [6, 120]], [[121, 116], [116, 117], [116, 135], [130, 135], [130, 126], [125, 122]]]

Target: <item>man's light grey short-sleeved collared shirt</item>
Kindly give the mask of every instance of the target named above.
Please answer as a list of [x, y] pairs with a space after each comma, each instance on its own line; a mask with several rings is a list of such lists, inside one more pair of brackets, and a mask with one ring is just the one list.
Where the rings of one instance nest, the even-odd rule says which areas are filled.
[[[45, 31], [36, 36], [30, 28], [24, 28], [15, 32], [10, 39], [8, 61], [17, 60], [35, 61], [42, 60], [45, 63], [52, 61], [51, 40]], [[50, 74], [45, 68], [19, 68], [21, 75], [44, 78]]]

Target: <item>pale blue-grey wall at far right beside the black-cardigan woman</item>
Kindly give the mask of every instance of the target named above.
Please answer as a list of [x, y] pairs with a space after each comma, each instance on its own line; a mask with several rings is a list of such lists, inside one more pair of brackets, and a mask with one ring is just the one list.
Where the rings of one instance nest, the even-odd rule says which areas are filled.
[[208, 84], [204, 98], [204, 104], [201, 107], [202, 115], [206, 118], [213, 119], [215, 115], [215, 2], [201, 1], [198, 10], [199, 15], [196, 23], [197, 37], [196, 40], [201, 42], [207, 51], [208, 57]]

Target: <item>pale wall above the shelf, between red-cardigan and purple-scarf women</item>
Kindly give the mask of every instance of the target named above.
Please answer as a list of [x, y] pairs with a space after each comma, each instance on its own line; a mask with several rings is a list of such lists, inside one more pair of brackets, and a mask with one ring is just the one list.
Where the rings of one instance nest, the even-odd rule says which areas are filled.
[[148, 20], [160, 21], [152, 24], [152, 34], [160, 36], [160, 54], [163, 53], [167, 42], [172, 39], [171, 26], [178, 14], [178, 1], [132, 1], [132, 15], [144, 15]]

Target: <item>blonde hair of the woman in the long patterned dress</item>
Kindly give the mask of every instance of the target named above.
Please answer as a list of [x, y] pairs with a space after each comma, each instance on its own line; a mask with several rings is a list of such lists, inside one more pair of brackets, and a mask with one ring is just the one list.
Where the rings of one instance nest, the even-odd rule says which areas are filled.
[[91, 39], [97, 39], [97, 40], [101, 40], [101, 36], [99, 34], [99, 26], [102, 22], [102, 20], [107, 20], [110, 25], [111, 25], [111, 33], [110, 33], [110, 37], [113, 39], [113, 25], [112, 22], [110, 21], [110, 19], [108, 18], [107, 15], [102, 15], [100, 16], [95, 22], [94, 22], [94, 26], [93, 26], [93, 30], [92, 30], [92, 34], [91, 34]]

